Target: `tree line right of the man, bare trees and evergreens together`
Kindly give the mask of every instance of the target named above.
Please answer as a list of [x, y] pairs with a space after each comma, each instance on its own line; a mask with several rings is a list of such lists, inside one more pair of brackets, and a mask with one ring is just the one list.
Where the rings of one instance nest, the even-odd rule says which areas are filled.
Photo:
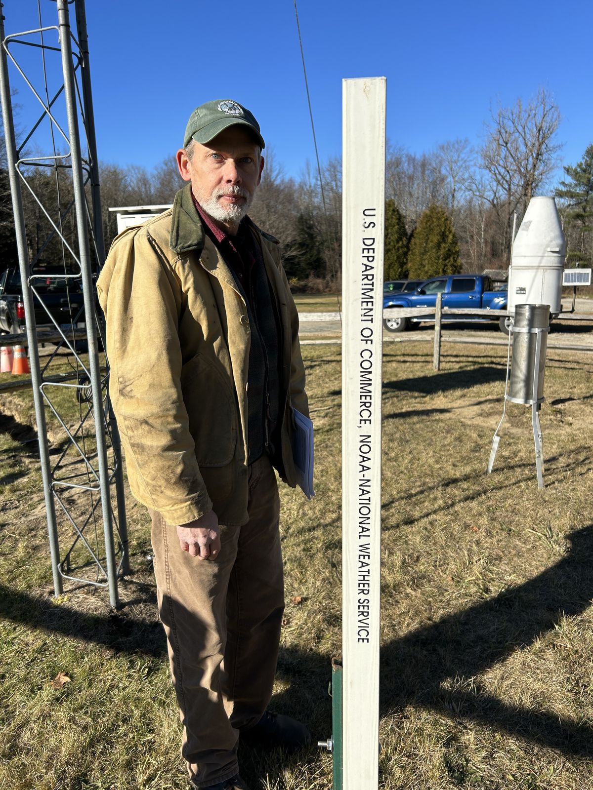
[[[385, 276], [387, 279], [507, 269], [513, 224], [531, 198], [553, 194], [568, 243], [567, 265], [593, 264], [593, 145], [578, 164], [560, 164], [560, 110], [544, 89], [530, 100], [495, 103], [482, 143], [446, 141], [420, 155], [390, 145], [386, 161]], [[255, 221], [284, 243], [294, 282], [339, 284], [342, 173], [330, 159], [321, 179], [309, 167], [298, 181], [281, 168], [264, 171]], [[322, 187], [323, 186], [323, 191]]]

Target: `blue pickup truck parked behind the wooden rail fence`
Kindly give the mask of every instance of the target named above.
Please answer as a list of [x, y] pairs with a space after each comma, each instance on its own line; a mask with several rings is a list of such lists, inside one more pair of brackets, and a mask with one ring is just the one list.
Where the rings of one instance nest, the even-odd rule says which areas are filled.
[[[492, 310], [493, 317], [483, 315], [447, 315], [443, 321], [497, 321], [500, 329], [508, 334], [505, 316], [497, 316], [499, 310], [507, 309], [507, 292], [493, 291], [492, 280], [484, 274], [448, 274], [425, 280], [414, 293], [387, 293], [383, 295], [383, 310], [386, 307], [434, 307], [436, 295], [443, 295], [443, 307], [457, 309]], [[412, 318], [384, 318], [385, 329], [390, 332], [405, 332], [410, 325], [422, 321], [434, 321], [434, 313]]]

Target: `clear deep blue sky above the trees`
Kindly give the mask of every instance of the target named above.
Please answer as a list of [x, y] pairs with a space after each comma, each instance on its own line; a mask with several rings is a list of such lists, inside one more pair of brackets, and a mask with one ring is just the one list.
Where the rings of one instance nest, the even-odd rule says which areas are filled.
[[[40, 2], [50, 24], [55, 2]], [[194, 107], [215, 98], [254, 112], [288, 175], [313, 160], [293, 0], [86, 5], [100, 160], [153, 167], [181, 145]], [[298, 0], [298, 9], [322, 159], [340, 155], [343, 77], [387, 77], [387, 136], [411, 152], [456, 137], [479, 144], [491, 104], [538, 87], [560, 107], [564, 163], [593, 142], [589, 0]], [[3, 13], [7, 33], [30, 29], [37, 0], [4, 0]], [[32, 102], [11, 80], [26, 126]]]

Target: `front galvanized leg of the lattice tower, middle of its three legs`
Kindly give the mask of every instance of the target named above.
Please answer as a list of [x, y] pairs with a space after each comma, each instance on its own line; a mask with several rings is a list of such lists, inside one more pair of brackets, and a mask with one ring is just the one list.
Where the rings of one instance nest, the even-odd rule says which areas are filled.
[[111, 606], [119, 603], [117, 590], [117, 570], [115, 567], [115, 544], [111, 521], [111, 496], [109, 486], [107, 444], [104, 431], [103, 396], [99, 370], [99, 349], [97, 344], [94, 284], [90, 265], [89, 236], [87, 229], [85, 187], [82, 176], [81, 144], [78, 132], [76, 92], [74, 88], [74, 69], [72, 66], [72, 42], [70, 40], [70, 17], [68, 0], [58, 2], [58, 25], [60, 49], [62, 51], [62, 71], [64, 76], [64, 93], [66, 98], [66, 114], [68, 118], [68, 134], [70, 137], [70, 157], [72, 162], [72, 181], [76, 200], [76, 222], [78, 246], [80, 250], [80, 266], [82, 293], [85, 302], [86, 333], [89, 343], [89, 371], [93, 391], [93, 412], [95, 418], [96, 452], [99, 465], [101, 510], [105, 538], [105, 561], [108, 570], [109, 600]]

